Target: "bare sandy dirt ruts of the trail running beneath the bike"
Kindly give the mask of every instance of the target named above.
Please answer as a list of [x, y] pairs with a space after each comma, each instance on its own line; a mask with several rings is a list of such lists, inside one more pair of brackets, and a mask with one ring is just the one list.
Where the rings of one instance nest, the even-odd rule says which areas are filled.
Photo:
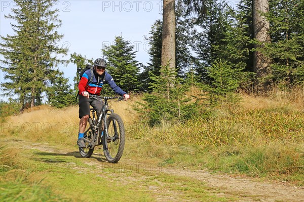
[[[2, 140], [11, 144], [14, 140]], [[48, 153], [61, 153], [67, 154], [70, 151], [58, 149], [54, 146], [50, 146], [47, 143], [32, 143], [26, 142], [23, 140], [14, 141], [14, 145], [19, 145], [25, 149], [38, 149]], [[101, 151], [101, 150], [99, 150]], [[91, 159], [84, 159], [84, 163], [88, 165], [96, 166], [100, 169], [109, 168], [109, 165], [106, 162], [97, 161], [97, 158], [101, 158], [100, 155], [93, 155]], [[137, 165], [144, 165], [149, 160], [144, 162], [139, 159], [122, 159], [119, 164], [116, 164], [117, 168], [119, 165], [126, 165], [130, 162], [136, 162]], [[106, 165], [106, 166], [105, 166]], [[85, 168], [83, 168], [85, 169]], [[159, 172], [159, 170], [149, 170], [149, 172]], [[176, 169], [176, 168], [167, 168], [163, 169], [162, 172], [168, 175], [174, 176], [183, 176], [187, 178], [193, 178], [204, 182], [204, 184], [210, 187], [211, 192], [220, 197], [233, 197], [237, 201], [304, 201], [304, 187], [296, 187], [291, 185], [288, 182], [260, 182], [256, 178], [249, 178], [243, 176], [233, 176], [231, 174], [211, 174], [204, 170], [187, 170], [187, 169]], [[127, 175], [124, 172], [110, 173], [110, 175], [120, 175], [122, 182], [130, 183], [132, 181], [138, 181], [145, 178], [141, 173], [136, 173], [135, 175]], [[149, 186], [148, 189], [156, 194], [160, 194], [157, 197], [157, 201], [178, 201], [178, 197], [175, 197], [175, 194], [171, 193], [168, 196], [162, 195], [162, 192], [170, 192], [171, 190], [161, 190], [158, 186]], [[171, 191], [172, 192], [172, 191]]]

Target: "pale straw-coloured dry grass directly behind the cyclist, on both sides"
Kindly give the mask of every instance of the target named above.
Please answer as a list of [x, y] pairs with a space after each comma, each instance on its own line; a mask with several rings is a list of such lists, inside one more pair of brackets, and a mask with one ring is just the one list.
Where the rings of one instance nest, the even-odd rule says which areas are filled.
[[[137, 118], [132, 105], [139, 99], [139, 97], [133, 97], [128, 102], [112, 101], [109, 104], [114, 112], [122, 117], [126, 128]], [[74, 145], [80, 120], [78, 111], [78, 106], [65, 109], [55, 109], [46, 105], [35, 107], [18, 116], [8, 117], [1, 124], [1, 133], [33, 141]]]

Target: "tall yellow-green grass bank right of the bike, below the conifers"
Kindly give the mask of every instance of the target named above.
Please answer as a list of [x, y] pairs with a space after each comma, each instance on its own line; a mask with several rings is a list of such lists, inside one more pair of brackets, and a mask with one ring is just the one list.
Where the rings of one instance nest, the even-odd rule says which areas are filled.
[[[304, 185], [304, 93], [243, 95], [240, 107], [222, 105], [196, 120], [132, 128], [129, 154], [163, 165], [212, 169]], [[127, 145], [128, 146], [128, 145]]]

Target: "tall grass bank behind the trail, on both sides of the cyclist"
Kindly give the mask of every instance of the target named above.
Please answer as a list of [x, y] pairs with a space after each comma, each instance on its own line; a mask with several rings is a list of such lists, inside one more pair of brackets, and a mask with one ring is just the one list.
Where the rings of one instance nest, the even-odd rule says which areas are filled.
[[[303, 88], [274, 90], [267, 97], [241, 96], [240, 105], [222, 104], [206, 109], [195, 120], [152, 128], [132, 110], [140, 97], [112, 103], [126, 126], [123, 158], [157, 159], [164, 166], [212, 169], [304, 185]], [[1, 132], [6, 137], [77, 149], [78, 122], [78, 107], [58, 110], [42, 106], [9, 117]]]

